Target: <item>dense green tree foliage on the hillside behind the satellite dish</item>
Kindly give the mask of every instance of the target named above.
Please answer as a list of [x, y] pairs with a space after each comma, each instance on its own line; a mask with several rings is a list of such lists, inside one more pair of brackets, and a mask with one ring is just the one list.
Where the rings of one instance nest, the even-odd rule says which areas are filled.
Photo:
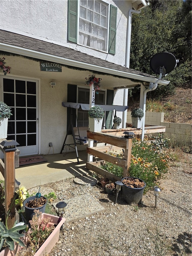
[[150, 1], [139, 15], [133, 14], [130, 68], [154, 75], [150, 59], [160, 52], [172, 53], [179, 63], [165, 78], [170, 84], [149, 94], [155, 98], [191, 85], [191, 1]]

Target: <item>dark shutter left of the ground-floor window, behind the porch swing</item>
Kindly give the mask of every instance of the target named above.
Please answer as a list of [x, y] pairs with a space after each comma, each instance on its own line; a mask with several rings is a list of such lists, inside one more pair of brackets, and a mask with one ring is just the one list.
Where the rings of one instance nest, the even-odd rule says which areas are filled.
[[[74, 84], [67, 84], [67, 102], [77, 102], [77, 86]], [[75, 118], [76, 109], [67, 107], [67, 130], [72, 120], [73, 126], [76, 126]], [[72, 134], [71, 129], [68, 134]]]

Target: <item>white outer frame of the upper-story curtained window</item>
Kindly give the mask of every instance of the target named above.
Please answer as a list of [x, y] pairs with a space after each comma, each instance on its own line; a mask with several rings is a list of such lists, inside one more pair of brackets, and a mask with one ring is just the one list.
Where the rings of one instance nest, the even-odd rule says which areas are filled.
[[[97, 0], [93, 0], [93, 1], [97, 1]], [[87, 46], [85, 44], [80, 44], [79, 43], [79, 19], [80, 19], [80, 0], [78, 1], [78, 19], [77, 19], [77, 44], [78, 45], [81, 45], [81, 46], [84, 46], [84, 47], [87, 47], [87, 48], [90, 48], [90, 49], [95, 49], [95, 50], [98, 50], [100, 52], [104, 52], [104, 53], [108, 53], [108, 50], [109, 50], [109, 27], [110, 27], [110, 4], [105, 2], [105, 1], [100, 1], [98, 0], [99, 2], [103, 2], [104, 4], [108, 5], [108, 13], [107, 13], [107, 39], [105, 41], [105, 43], [107, 44], [106, 45], [106, 51], [105, 50], [100, 50], [100, 49], [97, 49], [97, 48], [94, 48], [94, 47], [91, 47], [91, 46]], [[93, 24], [95, 24], [96, 26], [100, 26], [96, 23], [93, 22]], [[85, 33], [85, 34], [89, 34], [88, 32]], [[96, 35], [93, 35], [93, 34], [90, 34], [91, 36], [95, 36], [96, 38], [99, 38], [99, 36], [96, 36]]]

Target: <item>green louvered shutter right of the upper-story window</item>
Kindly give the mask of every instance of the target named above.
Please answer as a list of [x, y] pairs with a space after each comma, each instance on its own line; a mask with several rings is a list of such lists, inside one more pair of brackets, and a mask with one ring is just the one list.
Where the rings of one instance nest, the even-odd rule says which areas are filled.
[[116, 47], [116, 24], [117, 24], [117, 7], [110, 6], [110, 31], [109, 31], [109, 53], [115, 54]]

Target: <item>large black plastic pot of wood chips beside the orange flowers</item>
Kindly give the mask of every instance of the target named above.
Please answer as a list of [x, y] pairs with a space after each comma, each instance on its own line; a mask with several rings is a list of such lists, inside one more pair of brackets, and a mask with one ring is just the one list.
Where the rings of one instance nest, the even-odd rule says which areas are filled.
[[[122, 182], [124, 179], [127, 179], [127, 178], [139, 179], [135, 177], [125, 177], [122, 179]], [[139, 179], [139, 181], [144, 182], [142, 179]], [[131, 205], [132, 203], [140, 204], [142, 201], [143, 191], [145, 187], [146, 187], [146, 183], [142, 188], [131, 188], [123, 184], [122, 186], [123, 201], [125, 203], [128, 203], [129, 205]]]

